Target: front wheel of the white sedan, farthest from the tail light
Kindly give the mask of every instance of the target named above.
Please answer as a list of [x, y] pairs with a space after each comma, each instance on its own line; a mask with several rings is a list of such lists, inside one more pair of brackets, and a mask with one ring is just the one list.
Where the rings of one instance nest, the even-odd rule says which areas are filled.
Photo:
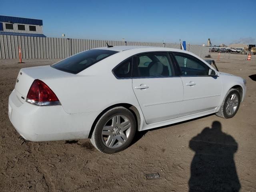
[[[232, 107], [232, 104], [229, 103], [229, 101], [232, 100], [231, 98], [233, 95], [236, 95], [236, 97], [237, 97], [237, 106], [236, 107], [234, 107], [235, 105]], [[236, 112], [239, 109], [240, 101], [241, 101], [241, 98], [240, 98], [240, 93], [238, 92], [238, 90], [230, 89], [227, 92], [227, 94], [221, 104], [220, 110], [216, 113], [216, 115], [221, 118], [225, 118], [225, 119], [234, 117], [236, 115]], [[232, 103], [235, 103], [235, 102], [232, 102]], [[233, 111], [234, 111], [233, 113], [230, 112], [230, 108], [233, 108]], [[235, 110], [234, 110], [234, 108], [235, 108]]]

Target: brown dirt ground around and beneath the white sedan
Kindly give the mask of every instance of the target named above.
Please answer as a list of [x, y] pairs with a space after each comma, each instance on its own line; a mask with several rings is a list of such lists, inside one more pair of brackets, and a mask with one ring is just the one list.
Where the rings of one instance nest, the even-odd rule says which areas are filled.
[[[216, 53], [212, 53], [217, 58]], [[234, 118], [215, 115], [139, 132], [118, 154], [90, 140], [26, 142], [8, 118], [8, 96], [20, 68], [57, 60], [0, 60], [0, 191], [256, 191], [256, 56], [224, 53], [220, 71], [247, 80]], [[145, 174], [158, 173], [148, 180]]]

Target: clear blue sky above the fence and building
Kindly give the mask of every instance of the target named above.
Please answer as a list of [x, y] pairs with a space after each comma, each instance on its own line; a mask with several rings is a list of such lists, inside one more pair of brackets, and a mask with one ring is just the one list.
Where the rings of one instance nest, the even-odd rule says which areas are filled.
[[51, 37], [256, 43], [256, 0], [1, 0], [0, 15], [42, 19]]

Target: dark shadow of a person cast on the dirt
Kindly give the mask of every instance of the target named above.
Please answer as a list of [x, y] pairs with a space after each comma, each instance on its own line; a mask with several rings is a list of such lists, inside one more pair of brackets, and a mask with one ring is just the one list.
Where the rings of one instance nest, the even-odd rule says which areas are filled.
[[196, 152], [191, 163], [190, 192], [239, 191], [234, 153], [238, 144], [221, 131], [218, 121], [193, 137], [189, 147]]

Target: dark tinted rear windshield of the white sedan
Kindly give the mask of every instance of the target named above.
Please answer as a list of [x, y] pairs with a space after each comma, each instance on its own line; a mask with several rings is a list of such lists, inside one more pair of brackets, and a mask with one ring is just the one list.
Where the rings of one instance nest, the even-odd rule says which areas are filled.
[[61, 60], [60, 62], [51, 65], [51, 67], [68, 73], [77, 74], [117, 52], [118, 51], [91, 49]]

